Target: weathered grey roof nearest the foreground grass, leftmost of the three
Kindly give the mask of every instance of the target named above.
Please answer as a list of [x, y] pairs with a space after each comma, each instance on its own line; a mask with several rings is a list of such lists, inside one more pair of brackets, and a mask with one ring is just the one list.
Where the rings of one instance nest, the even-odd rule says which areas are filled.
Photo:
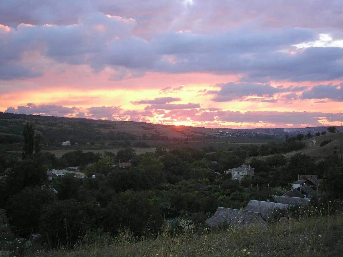
[[246, 210], [236, 210], [224, 207], [218, 207], [214, 215], [206, 220], [206, 225], [217, 227], [218, 225], [227, 222], [232, 225], [249, 225], [253, 223], [265, 224], [265, 220], [260, 213]]

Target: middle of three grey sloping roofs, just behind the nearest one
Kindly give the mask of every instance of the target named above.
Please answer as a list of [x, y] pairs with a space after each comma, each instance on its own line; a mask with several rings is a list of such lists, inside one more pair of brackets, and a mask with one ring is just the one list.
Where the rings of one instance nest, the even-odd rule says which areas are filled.
[[275, 210], [281, 210], [289, 206], [288, 204], [280, 204], [266, 201], [250, 200], [245, 207], [246, 211], [253, 211], [261, 213], [262, 217], [267, 220], [268, 217], [273, 216]]

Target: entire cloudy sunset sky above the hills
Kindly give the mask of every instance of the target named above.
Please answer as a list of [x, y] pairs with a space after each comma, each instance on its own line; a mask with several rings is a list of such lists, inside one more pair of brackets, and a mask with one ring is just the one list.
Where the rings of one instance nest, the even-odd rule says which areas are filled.
[[341, 0], [2, 0], [0, 111], [205, 127], [343, 121]]

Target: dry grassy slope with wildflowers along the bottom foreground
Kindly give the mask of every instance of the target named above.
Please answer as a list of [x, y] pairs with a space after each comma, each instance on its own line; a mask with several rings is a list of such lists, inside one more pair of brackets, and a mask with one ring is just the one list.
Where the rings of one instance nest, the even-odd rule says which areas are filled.
[[[40, 256], [342, 256], [343, 215], [266, 228], [204, 230], [201, 234], [167, 232], [145, 240], [122, 234], [101, 237], [72, 249], [41, 251]], [[37, 256], [35, 253], [32, 256]]]

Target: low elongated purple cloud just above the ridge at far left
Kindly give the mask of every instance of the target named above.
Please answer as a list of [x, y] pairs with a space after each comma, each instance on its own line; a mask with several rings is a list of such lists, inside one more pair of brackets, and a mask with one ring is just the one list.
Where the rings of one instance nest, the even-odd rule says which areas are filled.
[[10, 113], [23, 113], [23, 114], [40, 114], [40, 115], [51, 115], [51, 116], [64, 116], [67, 114], [75, 114], [79, 111], [76, 107], [64, 107], [58, 105], [35, 105], [28, 103], [26, 106], [18, 106], [17, 109], [9, 107], [5, 112]]

